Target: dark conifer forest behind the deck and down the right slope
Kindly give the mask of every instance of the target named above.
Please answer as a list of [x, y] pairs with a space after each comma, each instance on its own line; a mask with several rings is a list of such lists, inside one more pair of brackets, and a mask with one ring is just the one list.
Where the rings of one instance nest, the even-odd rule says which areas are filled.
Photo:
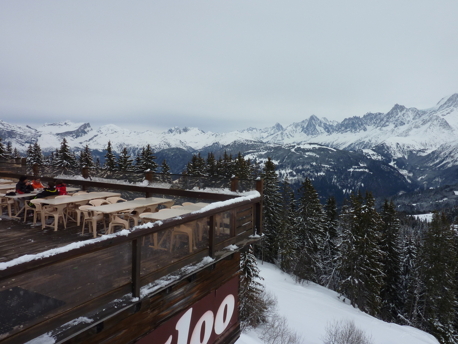
[[[21, 156], [0, 140], [0, 157]], [[28, 163], [169, 173], [167, 162], [156, 162], [149, 145], [135, 157], [126, 148], [116, 156], [108, 142], [104, 157], [103, 164], [94, 161], [87, 145], [76, 154], [65, 138], [48, 156], [38, 143], [27, 148]], [[417, 327], [441, 343], [458, 343], [458, 209], [444, 208], [431, 222], [420, 221], [399, 213], [393, 200], [379, 200], [376, 209], [370, 189], [351, 193], [339, 207], [333, 195], [322, 204], [310, 178], [293, 188], [287, 177], [278, 179], [270, 158], [261, 164], [240, 153], [217, 158], [209, 152], [206, 159], [195, 154], [183, 174], [264, 179], [264, 239], [242, 257], [240, 293], [251, 294], [251, 307], [262, 289], [253, 269], [257, 258], [276, 264], [298, 283], [337, 291], [341, 300], [386, 322]], [[243, 318], [250, 305], [241, 307]]]

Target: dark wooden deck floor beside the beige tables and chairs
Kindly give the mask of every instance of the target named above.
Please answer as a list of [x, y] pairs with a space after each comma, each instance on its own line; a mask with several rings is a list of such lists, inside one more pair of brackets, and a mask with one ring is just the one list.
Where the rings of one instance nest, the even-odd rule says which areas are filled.
[[[23, 222], [4, 215], [0, 221], [0, 262], [93, 238], [93, 234], [88, 233], [87, 224], [84, 235], [81, 228], [82, 225], [77, 227], [75, 222], [69, 221], [66, 229], [59, 224], [57, 232], [50, 227], [42, 230], [41, 222], [33, 226], [33, 216], [28, 216], [27, 222]], [[104, 233], [101, 223], [98, 224], [98, 233]]]

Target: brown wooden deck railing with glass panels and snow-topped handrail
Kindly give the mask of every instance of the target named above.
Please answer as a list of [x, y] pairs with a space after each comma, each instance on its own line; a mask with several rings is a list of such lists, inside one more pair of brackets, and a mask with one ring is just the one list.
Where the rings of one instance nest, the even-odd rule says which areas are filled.
[[[1, 167], [2, 164], [0, 177], [18, 178], [17, 173], [5, 171]], [[42, 180], [48, 178], [51, 179], [44, 176]], [[156, 194], [176, 192], [175, 195], [181, 197], [193, 196], [209, 200], [237, 197], [87, 180], [69, 179], [68, 183], [91, 187], [109, 184], [109, 189], [127, 188], [124, 190]], [[256, 184], [262, 194], [262, 180], [256, 181]], [[7, 324], [11, 328], [2, 329], [0, 343], [25, 343], [66, 322], [86, 316], [95, 309], [100, 309], [100, 319], [112, 316], [113, 312], [119, 311], [107, 307], [113, 300], [129, 299], [127, 306], [132, 306], [141, 302], [142, 296], [148, 292], [158, 292], [164, 288], [167, 283], [160, 282], [161, 278], [167, 281], [170, 275], [180, 278], [192, 275], [195, 271], [192, 266], [202, 262], [203, 258], [221, 258], [230, 254], [229, 250], [224, 250], [227, 246], [244, 245], [252, 240], [249, 238], [253, 235], [262, 234], [261, 196], [229, 203], [202, 213], [190, 213], [155, 222], [149, 225], [151, 227], [136, 227], [129, 233], [124, 232], [126, 235], [118, 233], [80, 242], [74, 245], [80, 247], [62, 250], [54, 255], [41, 255], [39, 259], [20, 262], [0, 270], [0, 287], [4, 287], [2, 292], [12, 296], [18, 293], [29, 304], [42, 305], [41, 309], [35, 308], [19, 316], [19, 319], [12, 320], [10, 325]], [[191, 229], [194, 236], [188, 245], [186, 240], [180, 240], [185, 239], [183, 229]], [[207, 260], [200, 267], [211, 264]], [[172, 282], [173, 278], [170, 279]]]

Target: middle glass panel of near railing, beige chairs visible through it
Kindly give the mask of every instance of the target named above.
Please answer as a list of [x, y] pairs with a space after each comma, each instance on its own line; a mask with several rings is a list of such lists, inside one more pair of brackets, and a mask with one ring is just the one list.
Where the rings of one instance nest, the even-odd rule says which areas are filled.
[[[144, 222], [156, 221], [154, 214], [160, 212], [144, 218]], [[145, 235], [142, 238], [141, 275], [146, 276], [204, 250], [208, 250], [208, 217]]]

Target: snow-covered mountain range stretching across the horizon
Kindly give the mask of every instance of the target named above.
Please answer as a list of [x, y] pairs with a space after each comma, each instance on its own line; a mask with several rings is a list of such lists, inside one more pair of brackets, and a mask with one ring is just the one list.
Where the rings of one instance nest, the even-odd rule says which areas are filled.
[[[73, 122], [50, 123], [31, 128], [0, 120], [0, 136], [4, 142], [11, 141], [22, 152], [28, 144], [36, 141], [44, 152], [50, 152], [59, 147], [63, 137], [67, 138], [72, 149], [81, 150], [88, 144], [95, 155], [99, 156], [103, 156], [109, 140], [116, 152], [127, 147], [132, 154], [136, 154], [142, 146], [151, 144], [158, 158], [169, 160], [173, 157], [171, 167], [174, 172], [181, 172], [185, 163], [197, 151], [204, 155], [213, 151], [217, 156], [224, 153], [224, 150], [233, 154], [240, 151], [261, 161], [267, 159], [267, 156], [277, 156], [273, 159], [278, 163], [281, 176], [288, 175], [295, 183], [307, 176], [323, 178], [319, 176], [326, 175], [327, 183], [323, 184], [323, 188], [337, 188], [341, 194], [349, 190], [370, 188], [367, 183], [375, 183], [377, 178], [382, 178], [382, 170], [394, 173], [390, 178], [396, 187], [392, 186], [391, 190], [379, 188], [386, 190], [380, 193], [381, 196], [458, 182], [456, 93], [424, 110], [396, 104], [387, 113], [369, 112], [362, 117], [345, 118], [342, 122], [312, 115], [287, 127], [276, 123], [268, 128], [247, 128], [229, 133], [179, 127], [162, 133], [135, 132], [112, 124], [94, 130], [89, 123]], [[341, 167], [350, 172], [349, 177], [344, 177], [340, 172], [337, 176], [335, 168], [327, 167], [338, 165], [339, 159], [346, 161], [342, 162], [344, 165]], [[334, 165], [325, 160], [332, 160]], [[372, 174], [372, 177], [362, 178], [361, 173]], [[363, 179], [366, 179], [366, 183]]]

